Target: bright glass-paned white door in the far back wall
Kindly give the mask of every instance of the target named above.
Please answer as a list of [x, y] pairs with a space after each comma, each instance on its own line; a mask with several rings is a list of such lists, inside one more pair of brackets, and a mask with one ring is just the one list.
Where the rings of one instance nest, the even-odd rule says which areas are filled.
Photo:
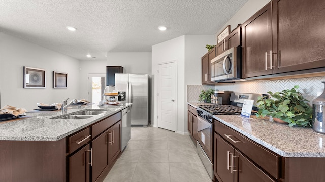
[[98, 104], [103, 99], [106, 74], [88, 74], [88, 101]]

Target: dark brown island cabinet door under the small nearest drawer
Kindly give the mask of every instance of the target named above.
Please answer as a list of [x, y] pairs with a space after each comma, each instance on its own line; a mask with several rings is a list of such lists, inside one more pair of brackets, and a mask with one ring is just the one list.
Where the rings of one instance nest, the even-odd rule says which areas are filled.
[[77, 153], [69, 157], [69, 181], [88, 182], [90, 166], [90, 144], [80, 149]]

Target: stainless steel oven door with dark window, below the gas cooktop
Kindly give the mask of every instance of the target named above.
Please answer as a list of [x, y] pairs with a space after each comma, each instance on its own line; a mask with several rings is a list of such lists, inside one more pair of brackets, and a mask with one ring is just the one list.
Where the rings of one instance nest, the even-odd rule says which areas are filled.
[[212, 123], [198, 115], [198, 142], [212, 162], [213, 126]]

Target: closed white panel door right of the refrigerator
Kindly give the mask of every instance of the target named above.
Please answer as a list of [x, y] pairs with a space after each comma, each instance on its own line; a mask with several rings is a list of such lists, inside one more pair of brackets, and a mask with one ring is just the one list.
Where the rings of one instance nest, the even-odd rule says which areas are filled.
[[176, 62], [158, 65], [158, 127], [176, 131]]

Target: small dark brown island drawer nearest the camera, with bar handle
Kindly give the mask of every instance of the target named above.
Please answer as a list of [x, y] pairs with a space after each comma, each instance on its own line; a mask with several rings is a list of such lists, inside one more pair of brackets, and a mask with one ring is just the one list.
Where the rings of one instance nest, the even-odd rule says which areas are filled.
[[72, 153], [79, 147], [87, 144], [90, 141], [90, 128], [86, 128], [82, 131], [77, 132], [76, 134], [68, 137], [68, 151]]

